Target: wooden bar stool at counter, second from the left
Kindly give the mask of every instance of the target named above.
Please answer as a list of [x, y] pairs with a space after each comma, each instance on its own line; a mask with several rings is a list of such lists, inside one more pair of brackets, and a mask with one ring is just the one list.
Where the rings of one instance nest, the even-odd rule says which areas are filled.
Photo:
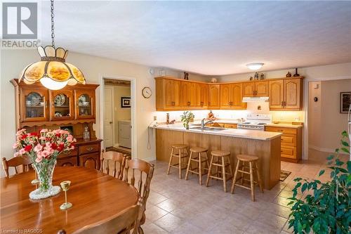
[[[201, 155], [202, 153], [202, 155]], [[197, 168], [190, 169], [192, 161], [197, 163]], [[206, 167], [202, 168], [202, 164], [206, 162]], [[203, 170], [204, 169], [204, 170]], [[197, 171], [196, 171], [197, 170]], [[207, 173], [202, 171], [208, 170], [208, 157], [207, 157], [207, 149], [201, 147], [192, 147], [190, 148], [190, 157], [189, 162], [187, 162], [187, 173], [185, 174], [185, 180], [187, 180], [189, 176], [189, 171], [199, 175], [199, 184], [202, 186], [202, 176]]]

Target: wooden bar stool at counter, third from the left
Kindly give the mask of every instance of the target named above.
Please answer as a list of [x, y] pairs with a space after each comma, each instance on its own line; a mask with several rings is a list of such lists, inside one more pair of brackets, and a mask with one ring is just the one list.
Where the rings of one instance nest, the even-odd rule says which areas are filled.
[[[215, 157], [217, 157], [216, 161], [215, 161]], [[213, 166], [217, 167], [216, 176], [212, 174]], [[221, 169], [222, 171], [219, 170], [220, 167], [222, 167]], [[229, 167], [229, 173], [225, 171], [226, 167]], [[229, 175], [229, 177], [227, 177], [227, 175]], [[230, 152], [222, 151], [222, 150], [212, 151], [210, 167], [208, 168], [206, 187], [208, 187], [208, 184], [210, 183], [210, 178], [216, 178], [218, 180], [223, 181], [223, 190], [225, 193], [227, 193], [227, 180], [230, 180], [230, 178], [232, 177], [233, 177], [233, 171], [232, 171], [232, 166], [230, 164]]]

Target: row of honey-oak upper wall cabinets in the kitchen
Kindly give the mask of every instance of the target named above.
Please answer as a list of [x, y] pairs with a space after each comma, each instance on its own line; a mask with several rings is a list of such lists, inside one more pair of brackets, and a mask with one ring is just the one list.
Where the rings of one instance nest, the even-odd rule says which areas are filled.
[[242, 103], [244, 97], [265, 97], [272, 100], [270, 110], [301, 110], [303, 78], [284, 77], [213, 84], [174, 77], [155, 77], [156, 110], [245, 110], [246, 103]]

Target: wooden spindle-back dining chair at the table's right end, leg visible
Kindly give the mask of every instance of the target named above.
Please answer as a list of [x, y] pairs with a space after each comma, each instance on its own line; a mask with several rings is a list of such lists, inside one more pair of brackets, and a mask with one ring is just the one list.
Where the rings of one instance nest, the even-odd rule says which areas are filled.
[[[129, 171], [131, 170], [131, 171]], [[128, 174], [128, 171], [130, 174]], [[135, 186], [135, 171], [138, 171], [136, 175], [138, 177], [138, 183]], [[152, 176], [154, 174], [154, 164], [150, 164], [143, 160], [127, 160], [126, 167], [124, 172], [124, 181], [126, 183], [131, 184], [131, 186], [135, 186], [139, 193], [139, 204], [140, 204], [140, 212], [138, 217], [138, 233], [143, 234], [144, 230], [141, 226], [145, 223], [145, 210], [146, 210], [146, 202], [147, 197], [149, 197], [150, 193], [150, 183]], [[130, 177], [130, 178], [128, 178]], [[144, 177], [144, 180], [143, 180]]]

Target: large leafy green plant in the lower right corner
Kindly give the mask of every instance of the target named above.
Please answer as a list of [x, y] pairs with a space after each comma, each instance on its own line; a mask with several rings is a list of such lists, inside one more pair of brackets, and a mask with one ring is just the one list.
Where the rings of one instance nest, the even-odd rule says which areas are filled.
[[[330, 181], [322, 183], [316, 179], [294, 179], [297, 183], [293, 188], [293, 197], [289, 198], [289, 205], [293, 205], [289, 228], [293, 228], [293, 233], [350, 233], [351, 161], [345, 164], [339, 159], [340, 151], [350, 154], [350, 144], [346, 138], [347, 133], [343, 131], [341, 148], [327, 158], [331, 169]], [[324, 172], [319, 171], [319, 176]], [[300, 193], [311, 193], [304, 199], [298, 199], [298, 190]]]

